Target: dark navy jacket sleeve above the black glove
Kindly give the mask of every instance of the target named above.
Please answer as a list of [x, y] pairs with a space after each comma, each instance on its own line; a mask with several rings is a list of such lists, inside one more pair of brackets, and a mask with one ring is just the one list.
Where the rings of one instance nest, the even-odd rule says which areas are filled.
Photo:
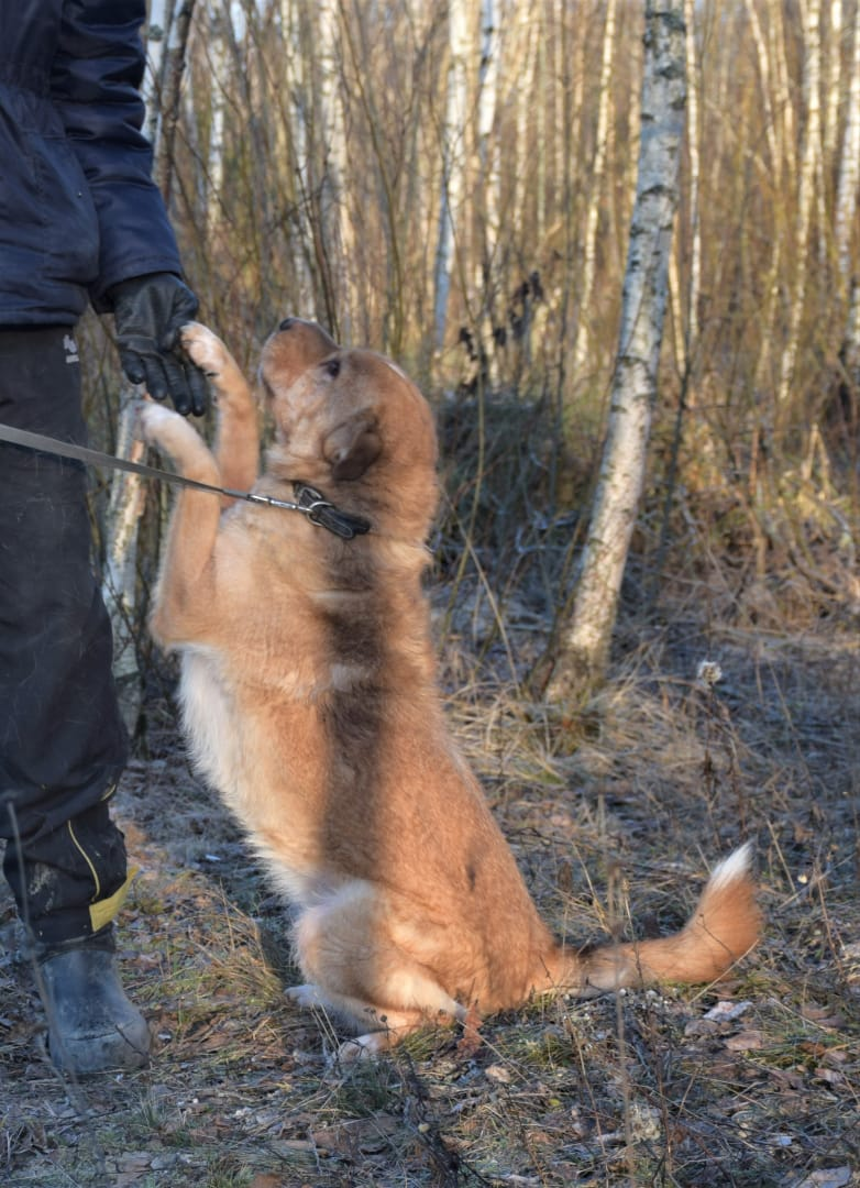
[[140, 26], [145, 0], [65, 0], [51, 95], [77, 156], [99, 217], [99, 278], [90, 299], [110, 308], [112, 285], [182, 265], [152, 148], [140, 131], [144, 75]]

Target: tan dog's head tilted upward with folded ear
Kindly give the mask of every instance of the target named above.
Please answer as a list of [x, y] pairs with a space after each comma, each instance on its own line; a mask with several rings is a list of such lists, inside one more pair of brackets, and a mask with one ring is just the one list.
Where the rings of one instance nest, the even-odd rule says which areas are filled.
[[418, 516], [426, 531], [436, 507], [436, 431], [426, 400], [399, 367], [289, 317], [263, 348], [260, 381], [274, 417], [273, 473], [375, 519]]

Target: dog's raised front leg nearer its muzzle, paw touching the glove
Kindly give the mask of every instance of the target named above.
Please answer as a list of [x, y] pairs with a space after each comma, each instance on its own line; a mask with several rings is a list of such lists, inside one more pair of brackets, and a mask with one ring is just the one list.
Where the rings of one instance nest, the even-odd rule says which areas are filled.
[[257, 406], [247, 380], [221, 339], [200, 322], [183, 326], [182, 345], [215, 390], [219, 417], [214, 453], [222, 485], [247, 491], [257, 481], [260, 465]]

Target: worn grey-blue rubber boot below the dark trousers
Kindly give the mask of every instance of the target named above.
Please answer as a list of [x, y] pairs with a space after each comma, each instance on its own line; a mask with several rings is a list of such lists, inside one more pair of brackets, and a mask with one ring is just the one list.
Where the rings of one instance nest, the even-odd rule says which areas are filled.
[[148, 1061], [150, 1029], [122, 991], [106, 933], [37, 954], [51, 1061], [75, 1076]]

